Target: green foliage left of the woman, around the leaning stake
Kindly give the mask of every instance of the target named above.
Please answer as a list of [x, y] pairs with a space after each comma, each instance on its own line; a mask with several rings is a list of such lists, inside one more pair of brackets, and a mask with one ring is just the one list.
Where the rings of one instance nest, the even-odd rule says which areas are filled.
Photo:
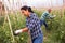
[[[10, 18], [13, 31], [25, 27], [25, 17], [24, 16], [22, 17], [20, 13], [14, 13], [14, 14], [9, 13], [9, 18]], [[0, 22], [0, 24], [3, 23], [0, 26], [0, 43], [12, 43], [13, 38], [12, 38], [12, 33], [9, 27], [9, 22], [8, 19], [5, 20], [4, 19], [1, 18], [1, 22]], [[27, 33], [22, 33], [17, 37], [14, 37], [14, 40], [15, 40], [14, 42], [27, 43], [27, 38], [28, 38]]]

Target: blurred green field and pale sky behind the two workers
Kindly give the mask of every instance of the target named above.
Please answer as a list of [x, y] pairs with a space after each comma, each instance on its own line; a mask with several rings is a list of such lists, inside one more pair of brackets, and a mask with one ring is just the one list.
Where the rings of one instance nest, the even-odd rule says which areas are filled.
[[30, 37], [24, 32], [17, 37], [13, 31], [26, 27], [26, 17], [21, 14], [23, 5], [31, 6], [40, 18], [48, 9], [52, 9], [53, 19], [47, 19], [48, 29], [42, 26], [43, 43], [65, 43], [65, 0], [0, 0], [0, 43], [30, 43]]

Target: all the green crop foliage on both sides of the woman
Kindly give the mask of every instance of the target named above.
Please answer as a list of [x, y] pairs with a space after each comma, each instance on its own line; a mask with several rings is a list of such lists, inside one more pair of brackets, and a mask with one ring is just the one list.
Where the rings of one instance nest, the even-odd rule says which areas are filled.
[[[40, 18], [43, 11], [34, 10], [38, 17]], [[48, 29], [46, 30], [44, 26], [42, 26], [43, 31], [43, 42], [44, 43], [65, 43], [65, 11], [64, 16], [61, 17], [61, 12], [58, 10], [54, 10], [51, 13], [52, 15], [56, 15], [53, 19], [47, 19]], [[22, 29], [26, 25], [25, 17], [20, 14], [20, 12], [11, 14], [9, 13], [10, 22], [12, 25], [13, 31], [17, 29]], [[4, 17], [0, 18], [0, 43], [12, 43], [13, 38], [9, 27], [8, 19]], [[14, 37], [15, 43], [27, 43], [28, 34], [22, 33], [17, 37]]]

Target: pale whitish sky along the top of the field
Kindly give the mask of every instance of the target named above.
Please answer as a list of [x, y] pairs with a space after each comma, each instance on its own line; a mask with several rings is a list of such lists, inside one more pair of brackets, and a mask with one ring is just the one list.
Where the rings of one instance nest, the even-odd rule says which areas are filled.
[[9, 9], [12, 9], [12, 8], [18, 9], [23, 5], [29, 5], [29, 6], [36, 6], [36, 8], [63, 5], [63, 0], [14, 0], [14, 1], [9, 0], [9, 1], [4, 0], [4, 4], [9, 6]]

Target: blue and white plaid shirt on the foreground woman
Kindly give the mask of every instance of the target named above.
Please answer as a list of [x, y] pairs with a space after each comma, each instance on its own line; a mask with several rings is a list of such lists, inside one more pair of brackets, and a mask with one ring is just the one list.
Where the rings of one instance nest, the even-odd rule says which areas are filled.
[[42, 34], [40, 19], [35, 13], [31, 13], [30, 16], [26, 18], [26, 27], [30, 30], [31, 39]]

